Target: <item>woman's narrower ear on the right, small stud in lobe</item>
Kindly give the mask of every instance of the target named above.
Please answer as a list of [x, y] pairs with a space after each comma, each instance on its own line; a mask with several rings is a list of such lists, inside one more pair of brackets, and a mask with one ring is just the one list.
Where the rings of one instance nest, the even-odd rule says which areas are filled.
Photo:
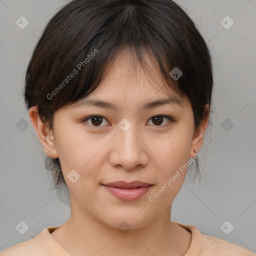
[[203, 143], [204, 132], [207, 128], [208, 119], [209, 119], [209, 105], [206, 104], [205, 107], [207, 108], [208, 113], [205, 116], [205, 120], [202, 121], [201, 125], [194, 132], [194, 136], [191, 143], [191, 149], [190, 149], [190, 157], [195, 156], [195, 152], [193, 150], [196, 149], [197, 151], [199, 151]]

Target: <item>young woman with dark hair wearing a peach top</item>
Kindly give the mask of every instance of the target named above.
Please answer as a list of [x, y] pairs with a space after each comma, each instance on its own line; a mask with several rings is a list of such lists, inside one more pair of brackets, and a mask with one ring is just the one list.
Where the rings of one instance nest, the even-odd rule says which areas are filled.
[[[243, 255], [170, 220], [210, 121], [211, 56], [171, 0], [73, 0], [26, 72], [31, 123], [70, 218], [6, 255]], [[198, 169], [197, 169], [198, 171]]]

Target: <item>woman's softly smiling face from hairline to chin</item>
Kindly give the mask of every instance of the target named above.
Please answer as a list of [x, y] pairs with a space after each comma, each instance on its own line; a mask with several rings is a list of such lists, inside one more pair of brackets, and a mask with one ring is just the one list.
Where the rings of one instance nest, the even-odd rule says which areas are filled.
[[[199, 150], [204, 131], [195, 136], [186, 98], [182, 105], [143, 107], [169, 97], [160, 78], [158, 87], [152, 86], [142, 71], [133, 71], [129, 55], [123, 55], [100, 87], [80, 105], [60, 108], [53, 120], [51, 152], [59, 157], [71, 211], [113, 227], [123, 221], [131, 228], [145, 226], [170, 207], [185, 178], [182, 164]], [[115, 108], [88, 105], [87, 99]], [[149, 185], [134, 190], [104, 185], [134, 180]]]

